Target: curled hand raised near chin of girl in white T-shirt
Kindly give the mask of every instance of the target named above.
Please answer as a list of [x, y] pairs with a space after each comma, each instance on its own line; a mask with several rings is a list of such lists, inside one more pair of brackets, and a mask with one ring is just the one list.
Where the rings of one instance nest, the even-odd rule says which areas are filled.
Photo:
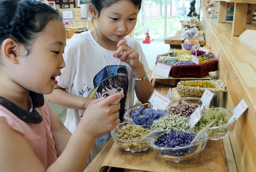
[[129, 64], [132, 68], [136, 68], [141, 64], [138, 52], [128, 46], [125, 39], [120, 40], [117, 43], [117, 47], [116, 53], [113, 54], [114, 57]]

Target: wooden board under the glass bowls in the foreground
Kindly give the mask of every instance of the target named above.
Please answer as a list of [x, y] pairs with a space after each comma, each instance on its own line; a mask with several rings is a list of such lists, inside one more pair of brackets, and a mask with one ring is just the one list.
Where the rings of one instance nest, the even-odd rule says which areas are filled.
[[[160, 84], [155, 80], [152, 84], [154, 90], [162, 95], [166, 95], [170, 88], [170, 86]], [[176, 89], [172, 89], [172, 100], [179, 98]], [[152, 149], [136, 153], [124, 151], [117, 147], [113, 139], [110, 139], [84, 172], [228, 172], [227, 162], [232, 160], [232, 156], [226, 157], [224, 152], [226, 145], [225, 151], [231, 149], [229, 139], [226, 138], [223, 141], [209, 140], [205, 149], [198, 156], [179, 163], [160, 158]], [[224, 141], [227, 143], [224, 144]]]

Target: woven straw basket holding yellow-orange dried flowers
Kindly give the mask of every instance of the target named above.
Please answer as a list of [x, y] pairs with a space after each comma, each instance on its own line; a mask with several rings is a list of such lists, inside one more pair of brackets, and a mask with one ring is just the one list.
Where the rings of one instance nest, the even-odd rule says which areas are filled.
[[[192, 81], [198, 81], [198, 80], [192, 80]], [[216, 88], [207, 88], [213, 93], [218, 92], [226, 92], [226, 86], [222, 80], [208, 80]], [[200, 88], [200, 87], [192, 87], [192, 86], [183, 86], [181, 83], [188, 82], [188, 81], [180, 81], [177, 84], [177, 92], [180, 94], [181, 97], [201, 97], [204, 93], [204, 90], [206, 88]]]

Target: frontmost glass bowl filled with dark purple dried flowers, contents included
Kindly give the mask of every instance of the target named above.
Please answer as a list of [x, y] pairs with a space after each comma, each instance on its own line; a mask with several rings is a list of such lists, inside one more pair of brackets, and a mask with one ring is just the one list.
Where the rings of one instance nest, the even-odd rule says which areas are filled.
[[195, 135], [191, 131], [172, 131], [159, 137], [151, 138], [150, 147], [161, 158], [180, 162], [181, 160], [187, 160], [197, 156], [205, 148], [208, 135], [205, 133], [201, 139], [190, 145]]

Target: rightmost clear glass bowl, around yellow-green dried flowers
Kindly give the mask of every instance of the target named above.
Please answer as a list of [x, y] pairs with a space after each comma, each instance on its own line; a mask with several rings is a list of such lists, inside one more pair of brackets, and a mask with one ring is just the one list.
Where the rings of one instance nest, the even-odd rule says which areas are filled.
[[[228, 115], [229, 118], [231, 118], [234, 114], [234, 111], [230, 109], [225, 109], [225, 108], [209, 108], [209, 109], [222, 109], [226, 112], [226, 115]], [[211, 140], [223, 139], [226, 135], [229, 135], [233, 131], [235, 127], [235, 123], [236, 123], [236, 119], [233, 118], [228, 125], [224, 124], [218, 127], [210, 127], [210, 129], [207, 131], [209, 139]]]

